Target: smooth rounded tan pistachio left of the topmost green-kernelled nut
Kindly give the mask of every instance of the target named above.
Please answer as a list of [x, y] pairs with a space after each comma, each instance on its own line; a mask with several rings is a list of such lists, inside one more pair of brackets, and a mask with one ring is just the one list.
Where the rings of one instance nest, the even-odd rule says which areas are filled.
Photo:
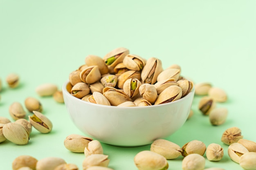
[[98, 66], [101, 74], [108, 73], [108, 66], [106, 66], [104, 60], [97, 55], [88, 55], [85, 57], [85, 63], [87, 66]]

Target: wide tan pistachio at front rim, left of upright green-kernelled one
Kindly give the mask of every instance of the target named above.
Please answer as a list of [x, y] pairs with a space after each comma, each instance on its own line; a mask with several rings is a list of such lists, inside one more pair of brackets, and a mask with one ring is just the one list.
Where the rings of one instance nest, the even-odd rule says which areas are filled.
[[117, 106], [121, 103], [130, 101], [129, 96], [126, 95], [126, 93], [114, 87], [103, 88], [103, 95], [108, 99], [111, 106]]

